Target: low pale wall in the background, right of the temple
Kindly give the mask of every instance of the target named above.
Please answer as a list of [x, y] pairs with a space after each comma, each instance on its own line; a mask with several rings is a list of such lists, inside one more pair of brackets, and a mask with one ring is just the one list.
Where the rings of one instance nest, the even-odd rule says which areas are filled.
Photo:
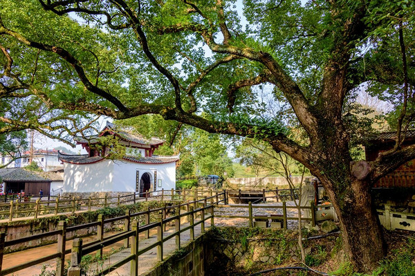
[[[291, 176], [291, 180], [294, 185], [299, 185], [301, 182], [301, 176]], [[267, 189], [273, 190], [275, 187], [279, 189], [288, 188], [288, 181], [286, 178], [279, 177], [241, 177], [241, 178], [228, 178], [223, 183], [225, 189], [232, 190], [250, 190], [250, 189]]]

